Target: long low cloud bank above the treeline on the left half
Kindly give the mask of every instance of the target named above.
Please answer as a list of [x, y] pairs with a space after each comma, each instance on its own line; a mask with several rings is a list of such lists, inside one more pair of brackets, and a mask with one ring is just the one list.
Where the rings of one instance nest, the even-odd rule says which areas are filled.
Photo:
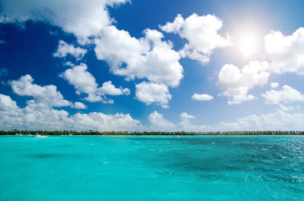
[[33, 130], [133, 131], [141, 128], [139, 120], [122, 113], [69, 115], [65, 110], [25, 107], [11, 112], [0, 111], [0, 116], [0, 127], [5, 130], [31, 127]]

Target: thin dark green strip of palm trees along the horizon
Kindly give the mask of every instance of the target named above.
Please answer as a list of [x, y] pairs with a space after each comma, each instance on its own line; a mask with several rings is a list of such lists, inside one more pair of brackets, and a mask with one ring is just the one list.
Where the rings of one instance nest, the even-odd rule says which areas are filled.
[[228, 131], [228, 132], [128, 132], [128, 131], [0, 131], [0, 135], [304, 135], [304, 131]]

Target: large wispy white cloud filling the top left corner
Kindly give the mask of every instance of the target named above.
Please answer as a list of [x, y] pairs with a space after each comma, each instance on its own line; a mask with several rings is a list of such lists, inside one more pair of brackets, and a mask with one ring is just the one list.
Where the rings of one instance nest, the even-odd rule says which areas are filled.
[[0, 3], [2, 20], [6, 23], [27, 19], [46, 21], [73, 33], [80, 42], [96, 36], [114, 20], [109, 17], [107, 6], [121, 5], [128, 0], [10, 0]]

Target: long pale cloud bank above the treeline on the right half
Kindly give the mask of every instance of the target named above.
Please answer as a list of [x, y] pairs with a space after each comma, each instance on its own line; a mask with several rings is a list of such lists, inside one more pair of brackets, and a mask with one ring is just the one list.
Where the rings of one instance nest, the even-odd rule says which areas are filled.
[[[295, 107], [295, 109], [298, 106]], [[239, 118], [236, 122], [220, 122], [215, 125], [194, 125], [190, 122], [190, 119], [194, 117], [188, 115], [187, 113], [180, 114], [181, 121], [178, 125], [170, 123], [167, 119], [163, 117], [162, 114], [157, 113], [156, 111], [151, 113], [150, 116], [156, 116], [156, 119], [151, 126], [153, 128], [157, 127], [158, 123], [166, 128], [167, 131], [187, 131], [187, 132], [217, 132], [217, 131], [260, 131], [260, 130], [269, 130], [269, 131], [290, 131], [290, 130], [303, 130], [304, 129], [304, 114], [295, 113], [289, 114], [282, 110], [277, 110], [275, 112], [270, 112], [268, 114], [262, 114], [260, 116], [250, 115], [247, 117]], [[150, 117], [149, 116], [149, 117]], [[191, 117], [189, 117], [191, 116]], [[171, 125], [168, 126], [168, 125]], [[164, 130], [164, 129], [162, 129]]]

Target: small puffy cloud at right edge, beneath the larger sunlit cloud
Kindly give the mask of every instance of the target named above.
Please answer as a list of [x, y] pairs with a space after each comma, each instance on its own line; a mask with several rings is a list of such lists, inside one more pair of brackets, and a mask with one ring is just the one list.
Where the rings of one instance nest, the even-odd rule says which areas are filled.
[[297, 90], [284, 85], [282, 90], [271, 90], [261, 94], [262, 97], [266, 99], [266, 104], [280, 104], [283, 103], [292, 103], [295, 101], [304, 101], [304, 95], [302, 95]]

